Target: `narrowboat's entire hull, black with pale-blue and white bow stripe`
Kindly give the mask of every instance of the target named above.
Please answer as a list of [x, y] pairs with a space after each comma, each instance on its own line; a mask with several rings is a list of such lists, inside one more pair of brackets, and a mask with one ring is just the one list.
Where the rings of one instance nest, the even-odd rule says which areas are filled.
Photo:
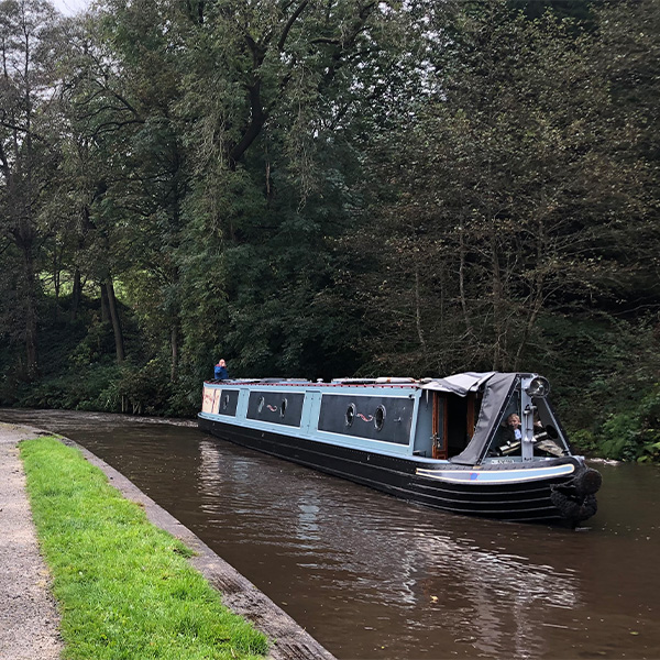
[[455, 514], [575, 526], [595, 513], [592, 495], [572, 494], [572, 484], [588, 472], [579, 457], [532, 461], [525, 468], [502, 463], [475, 469], [339, 447], [202, 416], [199, 427], [242, 447]]

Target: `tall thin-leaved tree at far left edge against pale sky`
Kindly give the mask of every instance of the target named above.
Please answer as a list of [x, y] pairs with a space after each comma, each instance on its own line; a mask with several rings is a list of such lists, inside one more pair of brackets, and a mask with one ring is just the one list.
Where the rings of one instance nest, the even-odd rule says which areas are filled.
[[0, 3], [0, 232], [21, 258], [18, 304], [23, 318], [24, 374], [38, 365], [38, 215], [56, 157], [47, 107], [48, 31], [53, 8], [41, 0]]

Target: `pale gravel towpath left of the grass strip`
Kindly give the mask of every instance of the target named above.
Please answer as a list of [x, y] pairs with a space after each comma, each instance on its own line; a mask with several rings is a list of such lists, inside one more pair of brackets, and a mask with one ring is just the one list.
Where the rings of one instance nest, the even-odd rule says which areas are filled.
[[38, 435], [0, 422], [0, 660], [56, 660], [63, 648], [16, 448]]

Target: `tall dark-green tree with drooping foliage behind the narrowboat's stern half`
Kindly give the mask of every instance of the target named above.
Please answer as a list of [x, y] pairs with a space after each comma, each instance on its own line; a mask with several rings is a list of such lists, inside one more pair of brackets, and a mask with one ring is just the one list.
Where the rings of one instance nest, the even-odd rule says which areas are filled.
[[332, 284], [330, 239], [354, 220], [352, 138], [367, 128], [362, 111], [387, 102], [404, 14], [346, 0], [221, 2], [183, 24], [195, 169], [182, 271], [204, 292], [188, 302], [193, 350], [229, 350], [253, 373], [318, 375], [340, 360], [346, 324], [328, 312], [343, 312], [319, 294]]

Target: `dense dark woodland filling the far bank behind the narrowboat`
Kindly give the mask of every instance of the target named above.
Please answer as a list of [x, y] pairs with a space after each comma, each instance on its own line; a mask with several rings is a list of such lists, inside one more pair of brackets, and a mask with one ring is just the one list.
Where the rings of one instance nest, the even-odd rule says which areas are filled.
[[538, 371], [660, 457], [656, 0], [4, 0], [0, 47], [0, 404]]

